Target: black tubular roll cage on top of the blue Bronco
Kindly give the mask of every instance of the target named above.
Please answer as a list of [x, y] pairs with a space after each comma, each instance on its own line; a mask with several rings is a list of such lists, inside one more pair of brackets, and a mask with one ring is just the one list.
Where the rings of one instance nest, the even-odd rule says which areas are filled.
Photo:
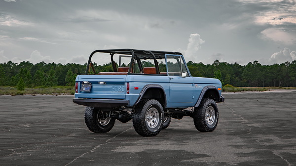
[[111, 64], [114, 72], [117, 72], [116, 63], [113, 60], [113, 55], [120, 54], [120, 55], [131, 55], [131, 61], [128, 69], [128, 73], [131, 73], [132, 67], [134, 66], [134, 61], [137, 60], [139, 64], [140, 70], [143, 69], [142, 64], [140, 63], [140, 59], [153, 59], [156, 73], [159, 74], [159, 67], [157, 64], [157, 59], [165, 58], [166, 54], [172, 55], [182, 55], [179, 52], [166, 52], [166, 51], [148, 51], [148, 50], [135, 50], [135, 49], [111, 49], [111, 50], [95, 50], [89, 55], [85, 74], [88, 74], [90, 70], [90, 66], [92, 66], [91, 58], [95, 53], [109, 53], [111, 55]]

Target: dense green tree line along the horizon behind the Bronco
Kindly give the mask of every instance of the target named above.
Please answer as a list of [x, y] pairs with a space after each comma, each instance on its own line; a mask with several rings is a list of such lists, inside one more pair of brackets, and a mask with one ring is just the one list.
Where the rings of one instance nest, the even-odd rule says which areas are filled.
[[[145, 63], [145, 62], [143, 62]], [[273, 65], [261, 65], [258, 61], [247, 65], [230, 64], [215, 60], [213, 64], [189, 61], [188, 69], [194, 77], [217, 78], [223, 85], [231, 84], [239, 87], [296, 86], [296, 60]], [[96, 71], [112, 71], [111, 63], [97, 65]], [[29, 61], [0, 63], [0, 85], [24, 87], [36, 86], [74, 86], [78, 74], [84, 74], [86, 63], [56, 64]]]

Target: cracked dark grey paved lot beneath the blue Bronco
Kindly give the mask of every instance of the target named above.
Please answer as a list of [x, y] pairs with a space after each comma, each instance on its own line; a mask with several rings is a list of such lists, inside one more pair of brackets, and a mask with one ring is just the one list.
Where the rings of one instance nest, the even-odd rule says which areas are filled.
[[296, 165], [296, 91], [224, 97], [214, 132], [184, 117], [145, 138], [132, 121], [91, 133], [72, 96], [0, 96], [0, 165]]

